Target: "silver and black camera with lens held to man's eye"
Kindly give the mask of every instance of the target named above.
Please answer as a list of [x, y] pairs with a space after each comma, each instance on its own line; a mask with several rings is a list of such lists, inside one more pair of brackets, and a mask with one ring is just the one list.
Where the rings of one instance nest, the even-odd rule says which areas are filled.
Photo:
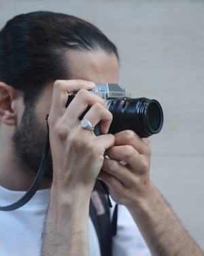
[[[163, 109], [157, 100], [148, 98], [131, 98], [131, 95], [114, 83], [103, 83], [90, 90], [103, 98], [113, 120], [109, 133], [133, 130], [139, 137], [157, 134], [163, 127]], [[74, 96], [68, 99], [67, 105]], [[100, 134], [99, 126], [95, 134]]]

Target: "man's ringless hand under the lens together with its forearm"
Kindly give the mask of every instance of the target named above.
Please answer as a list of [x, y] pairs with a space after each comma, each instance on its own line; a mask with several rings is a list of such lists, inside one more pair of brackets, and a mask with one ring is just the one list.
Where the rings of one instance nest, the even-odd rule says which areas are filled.
[[156, 256], [203, 256], [150, 182], [150, 139], [131, 131], [115, 134], [99, 178], [117, 203], [126, 205]]

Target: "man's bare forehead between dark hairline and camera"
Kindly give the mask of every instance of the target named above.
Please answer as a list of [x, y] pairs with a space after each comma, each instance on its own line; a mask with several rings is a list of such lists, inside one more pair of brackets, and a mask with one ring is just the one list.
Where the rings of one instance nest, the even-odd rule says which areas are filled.
[[69, 79], [94, 83], [118, 83], [119, 63], [114, 53], [102, 50], [69, 51], [65, 55]]

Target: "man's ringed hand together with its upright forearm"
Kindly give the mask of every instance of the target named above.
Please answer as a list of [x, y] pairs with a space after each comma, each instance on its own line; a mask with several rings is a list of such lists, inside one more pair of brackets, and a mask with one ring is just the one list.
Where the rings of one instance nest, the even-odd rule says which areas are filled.
[[[48, 124], [53, 181], [42, 255], [88, 255], [90, 195], [101, 170], [105, 151], [114, 145], [107, 134], [112, 114], [105, 101], [88, 91], [95, 84], [82, 80], [56, 81]], [[66, 108], [68, 96], [78, 91]], [[101, 135], [82, 128], [80, 116]]]

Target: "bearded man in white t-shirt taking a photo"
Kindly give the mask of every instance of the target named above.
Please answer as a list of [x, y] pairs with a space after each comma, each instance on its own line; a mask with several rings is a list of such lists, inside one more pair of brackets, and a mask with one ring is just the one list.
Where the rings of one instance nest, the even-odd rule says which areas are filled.
[[[1, 30], [1, 206], [31, 186], [47, 114], [51, 151], [34, 197], [21, 208], [0, 211], [1, 255], [101, 255], [88, 218], [97, 177], [120, 204], [109, 255], [151, 255], [148, 247], [152, 255], [203, 255], [150, 182], [149, 139], [131, 130], [108, 134], [112, 115], [90, 89], [118, 83], [118, 74], [116, 46], [84, 20], [34, 12], [16, 16]], [[80, 122], [84, 111], [88, 126]], [[92, 128], [98, 123], [96, 136]]]

